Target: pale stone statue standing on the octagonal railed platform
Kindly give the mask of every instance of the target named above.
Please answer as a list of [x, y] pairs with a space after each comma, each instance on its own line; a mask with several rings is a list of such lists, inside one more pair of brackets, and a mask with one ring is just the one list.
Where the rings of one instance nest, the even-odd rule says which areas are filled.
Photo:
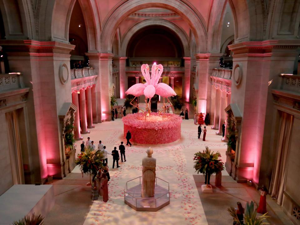
[[155, 188], [155, 168], [156, 158], [152, 158], [152, 148], [147, 149], [147, 157], [143, 158], [143, 182], [142, 182], [142, 197], [153, 197]]

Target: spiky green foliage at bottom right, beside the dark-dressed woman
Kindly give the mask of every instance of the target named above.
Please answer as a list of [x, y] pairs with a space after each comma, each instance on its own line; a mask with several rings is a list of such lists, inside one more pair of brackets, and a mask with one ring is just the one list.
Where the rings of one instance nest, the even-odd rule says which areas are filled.
[[[237, 218], [237, 213], [235, 212], [233, 207], [227, 208], [227, 211], [232, 216], [233, 221], [236, 225], [241, 225], [240, 221]], [[263, 224], [269, 224], [266, 222], [263, 222], [266, 218], [269, 216], [266, 216], [267, 213], [263, 214], [262, 216], [256, 217], [257, 214], [257, 208], [254, 209], [254, 202], [247, 202], [246, 208], [245, 208], [245, 225], [263, 225]]]

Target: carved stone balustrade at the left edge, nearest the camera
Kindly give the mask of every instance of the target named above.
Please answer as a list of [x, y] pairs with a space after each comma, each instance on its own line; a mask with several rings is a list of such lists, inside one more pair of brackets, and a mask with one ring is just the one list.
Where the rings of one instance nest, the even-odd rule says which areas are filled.
[[0, 92], [24, 88], [22, 73], [0, 74]]

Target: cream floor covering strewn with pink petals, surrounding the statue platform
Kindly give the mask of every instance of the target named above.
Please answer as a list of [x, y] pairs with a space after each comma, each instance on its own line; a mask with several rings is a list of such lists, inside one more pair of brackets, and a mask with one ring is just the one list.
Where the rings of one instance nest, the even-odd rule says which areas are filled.
[[[101, 140], [108, 151], [117, 147], [123, 138], [123, 123], [121, 119], [96, 124], [90, 134], [83, 135], [83, 140], [90, 137], [98, 144]], [[201, 135], [202, 138], [202, 135]], [[183, 120], [182, 137], [180, 140], [159, 146], [152, 146], [153, 157], [157, 159], [156, 176], [170, 184], [170, 205], [158, 212], [136, 212], [124, 204], [123, 190], [126, 182], [142, 175], [142, 158], [147, 156], [148, 146], [133, 144], [126, 147], [125, 163], [120, 168], [112, 169], [112, 157], [108, 156], [111, 180], [109, 182], [109, 201], [94, 201], [84, 222], [85, 225], [103, 224], [207, 224], [193, 174], [193, 155], [203, 150], [207, 145], [213, 151], [220, 151], [225, 160], [225, 143], [214, 130], [207, 129], [207, 141], [197, 138], [197, 126], [193, 120]], [[80, 141], [77, 142], [80, 145]], [[121, 162], [121, 160], [120, 160]], [[73, 170], [79, 172], [77, 168]], [[223, 171], [224, 175], [228, 175]]]

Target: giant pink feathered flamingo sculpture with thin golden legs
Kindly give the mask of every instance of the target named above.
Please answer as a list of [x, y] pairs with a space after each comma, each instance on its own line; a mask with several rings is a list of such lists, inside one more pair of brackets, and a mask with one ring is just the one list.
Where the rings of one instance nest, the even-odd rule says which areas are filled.
[[[148, 113], [150, 113], [150, 99], [155, 95], [158, 94], [160, 96], [162, 96], [163, 98], [167, 98], [170, 96], [174, 96], [176, 95], [176, 93], [174, 92], [174, 90], [167, 84], [165, 83], [158, 83], [159, 78], [161, 77], [162, 73], [163, 73], [163, 65], [159, 64], [153, 64], [152, 68], [151, 68], [151, 77], [149, 74], [149, 65], [148, 64], [143, 64], [141, 66], [141, 71], [142, 74], [146, 80], [146, 83], [138, 83], [138, 84], [134, 84], [133, 86], [131, 86], [130, 88], [128, 88], [128, 90], [125, 92], [126, 94], [132, 94], [135, 97], [133, 98], [133, 100], [141, 95], [145, 95], [145, 97], [147, 99], [149, 99], [149, 102], [147, 99], [145, 99], [146, 102], [146, 110], [148, 110]], [[133, 100], [130, 102], [131, 105]], [[171, 102], [168, 99], [168, 102], [171, 104]], [[163, 103], [163, 108], [164, 108], [164, 103]], [[133, 105], [134, 106], [134, 105]], [[172, 104], [171, 104], [172, 106]], [[171, 107], [169, 106], [169, 107]], [[168, 108], [169, 108], [168, 107]], [[143, 111], [142, 109], [140, 109], [141, 111]], [[144, 112], [144, 111], [143, 111]], [[161, 110], [159, 110], [159, 112], [161, 113]]]

